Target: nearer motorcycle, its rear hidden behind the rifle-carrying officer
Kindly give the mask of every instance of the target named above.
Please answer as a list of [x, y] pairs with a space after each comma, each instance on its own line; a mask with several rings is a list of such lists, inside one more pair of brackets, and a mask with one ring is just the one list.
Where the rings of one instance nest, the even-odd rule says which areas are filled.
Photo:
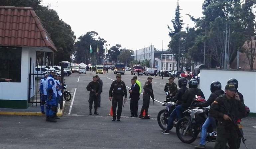
[[[195, 97], [195, 100], [192, 102], [205, 102], [205, 99], [200, 96]], [[188, 110], [184, 111], [184, 118], [180, 119], [176, 125], [176, 134], [178, 138], [184, 143], [192, 143], [198, 138], [198, 134], [201, 132], [201, 127], [207, 119], [208, 108], [200, 108], [200, 107], [189, 107]], [[216, 137], [210, 136], [209, 133], [212, 132], [213, 129], [211, 126], [207, 129], [207, 142], [215, 142]]]

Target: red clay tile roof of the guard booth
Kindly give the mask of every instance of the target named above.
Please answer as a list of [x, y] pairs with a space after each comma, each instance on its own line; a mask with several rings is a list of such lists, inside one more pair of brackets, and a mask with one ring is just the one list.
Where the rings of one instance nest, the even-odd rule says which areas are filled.
[[0, 45], [48, 47], [57, 51], [33, 8], [0, 6]]

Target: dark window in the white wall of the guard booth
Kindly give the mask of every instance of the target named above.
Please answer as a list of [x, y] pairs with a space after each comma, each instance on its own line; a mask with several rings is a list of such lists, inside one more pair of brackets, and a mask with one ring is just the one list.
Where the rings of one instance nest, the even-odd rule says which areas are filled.
[[21, 47], [0, 46], [0, 78], [21, 82]]

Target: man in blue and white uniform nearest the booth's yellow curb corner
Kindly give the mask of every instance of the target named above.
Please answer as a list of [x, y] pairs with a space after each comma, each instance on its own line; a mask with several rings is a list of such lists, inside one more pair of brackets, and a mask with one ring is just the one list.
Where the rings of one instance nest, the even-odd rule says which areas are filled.
[[47, 122], [57, 122], [54, 118], [54, 111], [56, 111], [56, 82], [54, 79], [55, 69], [49, 69], [50, 75], [47, 77], [47, 101], [46, 101], [46, 121]]

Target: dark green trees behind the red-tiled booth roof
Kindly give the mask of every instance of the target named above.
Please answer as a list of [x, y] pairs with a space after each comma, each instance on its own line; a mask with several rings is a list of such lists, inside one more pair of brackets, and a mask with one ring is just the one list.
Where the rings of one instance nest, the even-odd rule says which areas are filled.
[[[60, 61], [70, 61], [70, 55], [74, 52], [76, 37], [70, 25], [61, 20], [55, 10], [49, 9], [48, 6], [43, 6], [42, 0], [1, 0], [1, 5], [32, 7], [58, 50], [58, 52], [54, 54], [55, 65]], [[51, 62], [51, 53], [47, 53], [46, 56], [47, 61]], [[43, 62], [43, 57], [43, 52], [39, 52], [37, 55], [38, 62]]]

